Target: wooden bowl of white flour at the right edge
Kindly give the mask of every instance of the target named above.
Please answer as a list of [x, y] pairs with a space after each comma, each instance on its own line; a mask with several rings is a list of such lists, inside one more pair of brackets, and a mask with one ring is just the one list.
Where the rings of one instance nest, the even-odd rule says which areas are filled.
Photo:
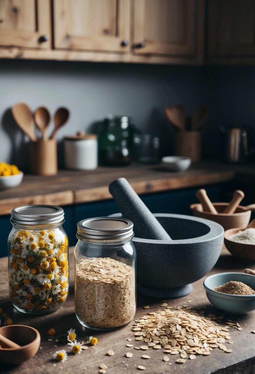
[[255, 262], [255, 244], [237, 243], [233, 242], [233, 240], [229, 240], [231, 235], [243, 230], [245, 229], [239, 227], [237, 229], [229, 229], [225, 231], [224, 244], [228, 251], [239, 261], [243, 263], [252, 263]]

